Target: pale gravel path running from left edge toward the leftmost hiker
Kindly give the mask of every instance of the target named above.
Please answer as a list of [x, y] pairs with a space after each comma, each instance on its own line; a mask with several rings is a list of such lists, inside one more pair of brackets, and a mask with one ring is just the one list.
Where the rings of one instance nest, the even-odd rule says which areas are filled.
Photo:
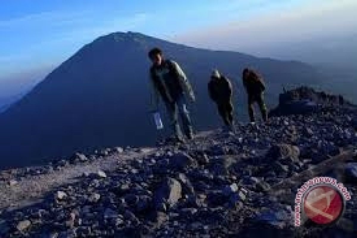
[[[95, 173], [98, 171], [112, 171], [127, 159], [145, 156], [153, 151], [151, 148], [143, 148], [143, 152], [116, 153], [114, 155], [100, 157], [91, 163], [81, 163], [59, 170], [39, 175], [27, 175], [16, 180], [16, 173], [10, 171], [12, 179], [7, 176], [7, 181], [0, 183], [0, 209], [18, 209], [32, 203], [40, 202], [44, 194], [63, 184], [78, 182], [83, 173]], [[36, 170], [36, 168], [34, 169]], [[9, 171], [2, 172], [9, 174]], [[16, 181], [11, 185], [9, 181]]]

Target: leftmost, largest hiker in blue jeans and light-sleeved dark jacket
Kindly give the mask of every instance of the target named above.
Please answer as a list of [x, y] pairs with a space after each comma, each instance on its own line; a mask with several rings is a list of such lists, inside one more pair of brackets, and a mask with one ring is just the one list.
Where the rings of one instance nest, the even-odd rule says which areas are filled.
[[188, 139], [193, 138], [191, 119], [186, 107], [186, 97], [191, 102], [195, 101], [190, 82], [187, 80], [181, 67], [172, 60], [165, 60], [161, 49], [154, 48], [149, 51], [152, 61], [150, 67], [150, 82], [152, 86], [151, 111], [157, 111], [159, 98], [164, 101], [169, 114], [171, 127], [177, 142], [184, 142], [178, 115], [182, 119], [183, 129]]

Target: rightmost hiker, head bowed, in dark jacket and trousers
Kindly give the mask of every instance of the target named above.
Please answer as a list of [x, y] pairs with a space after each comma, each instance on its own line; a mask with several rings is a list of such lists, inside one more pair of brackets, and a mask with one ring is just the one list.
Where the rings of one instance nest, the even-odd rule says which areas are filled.
[[260, 75], [252, 69], [244, 69], [242, 75], [243, 85], [248, 94], [248, 112], [251, 122], [255, 121], [254, 118], [254, 103], [257, 102], [262, 113], [263, 120], [267, 122], [268, 114], [267, 108], [264, 103], [263, 92], [265, 91], [265, 84]]

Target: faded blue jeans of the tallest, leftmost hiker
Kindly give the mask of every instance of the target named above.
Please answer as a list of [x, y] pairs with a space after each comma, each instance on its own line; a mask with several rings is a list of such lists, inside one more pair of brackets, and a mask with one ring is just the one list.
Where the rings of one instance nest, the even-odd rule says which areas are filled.
[[186, 136], [192, 135], [193, 130], [191, 125], [191, 118], [186, 108], [186, 100], [184, 96], [183, 95], [179, 96], [174, 103], [165, 102], [165, 104], [166, 104], [167, 114], [169, 115], [171, 128], [175, 136], [178, 138], [182, 137], [180, 124], [178, 123], [179, 116], [181, 117], [183, 130]]

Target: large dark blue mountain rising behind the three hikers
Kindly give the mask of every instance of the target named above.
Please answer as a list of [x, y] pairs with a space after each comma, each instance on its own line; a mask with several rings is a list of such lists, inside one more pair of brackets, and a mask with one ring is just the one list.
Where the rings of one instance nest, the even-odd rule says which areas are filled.
[[192, 82], [197, 102], [191, 112], [199, 130], [221, 125], [207, 95], [213, 68], [232, 79], [239, 118], [246, 117], [240, 79], [244, 67], [253, 66], [265, 77], [270, 103], [277, 102], [282, 84], [326, 81], [301, 62], [196, 49], [133, 32], [113, 33], [82, 47], [0, 115], [0, 166], [33, 164], [74, 150], [152, 144], [157, 134], [147, 113], [147, 51], [154, 46], [175, 59]]

